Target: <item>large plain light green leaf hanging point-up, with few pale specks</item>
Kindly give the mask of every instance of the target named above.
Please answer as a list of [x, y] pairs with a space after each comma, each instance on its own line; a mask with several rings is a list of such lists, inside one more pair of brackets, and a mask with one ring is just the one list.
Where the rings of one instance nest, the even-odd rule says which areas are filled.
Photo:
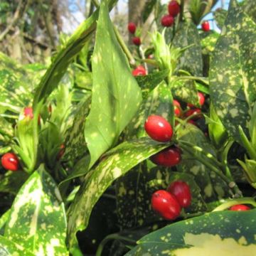
[[114, 34], [106, 1], [100, 6], [92, 74], [92, 107], [85, 124], [90, 167], [117, 143], [142, 100], [142, 92]]

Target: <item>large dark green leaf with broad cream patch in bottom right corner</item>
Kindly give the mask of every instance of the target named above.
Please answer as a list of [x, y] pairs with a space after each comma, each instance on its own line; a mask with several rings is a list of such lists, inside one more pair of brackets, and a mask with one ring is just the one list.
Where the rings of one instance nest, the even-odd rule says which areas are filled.
[[132, 255], [253, 255], [256, 210], [225, 210], [179, 221], [139, 240]]

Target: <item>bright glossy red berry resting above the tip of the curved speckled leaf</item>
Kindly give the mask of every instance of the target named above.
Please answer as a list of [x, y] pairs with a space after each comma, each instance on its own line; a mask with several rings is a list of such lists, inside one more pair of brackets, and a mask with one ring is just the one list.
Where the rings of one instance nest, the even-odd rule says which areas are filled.
[[157, 142], [169, 142], [173, 135], [171, 124], [164, 117], [154, 114], [146, 119], [144, 128], [149, 137]]

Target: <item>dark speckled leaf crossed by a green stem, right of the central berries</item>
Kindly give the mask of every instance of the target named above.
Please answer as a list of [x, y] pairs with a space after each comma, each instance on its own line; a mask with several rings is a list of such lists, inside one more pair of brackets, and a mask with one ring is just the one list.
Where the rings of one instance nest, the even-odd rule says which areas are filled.
[[[186, 124], [185, 126], [181, 126], [176, 134], [178, 141], [183, 140], [199, 146], [203, 151], [209, 152], [216, 158], [215, 149], [207, 141], [203, 132], [195, 125]], [[178, 165], [178, 170], [195, 177], [196, 183], [201, 188], [203, 200], [208, 203], [210, 201], [215, 201], [218, 198], [230, 196], [227, 184], [220, 179], [214, 171], [209, 170], [208, 167], [201, 164], [200, 161], [191, 158], [186, 151], [183, 152], [182, 157], [183, 161]]]

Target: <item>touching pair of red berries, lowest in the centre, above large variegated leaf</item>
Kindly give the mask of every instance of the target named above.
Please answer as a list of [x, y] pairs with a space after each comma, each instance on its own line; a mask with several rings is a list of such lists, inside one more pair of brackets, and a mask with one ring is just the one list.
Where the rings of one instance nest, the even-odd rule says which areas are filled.
[[191, 191], [184, 181], [174, 181], [164, 190], [153, 193], [151, 207], [166, 220], [175, 220], [181, 214], [181, 208], [191, 205]]

